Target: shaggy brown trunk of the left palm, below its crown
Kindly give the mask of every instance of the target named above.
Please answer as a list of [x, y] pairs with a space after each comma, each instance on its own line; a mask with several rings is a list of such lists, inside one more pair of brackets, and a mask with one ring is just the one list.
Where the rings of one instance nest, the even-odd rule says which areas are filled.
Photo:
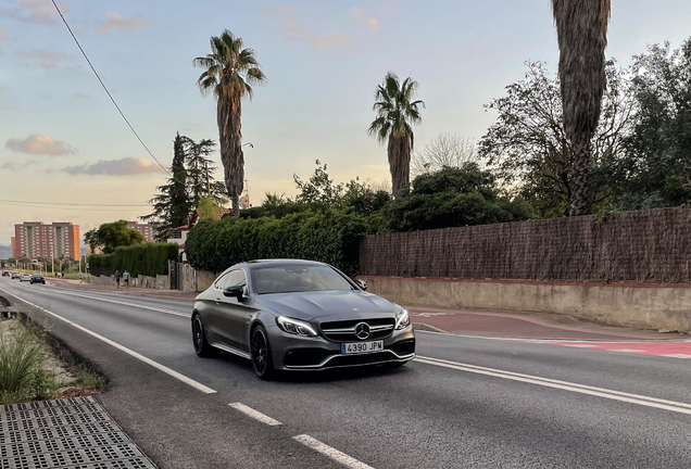
[[221, 162], [233, 207], [233, 215], [240, 216], [240, 194], [244, 183], [244, 155], [242, 154], [242, 103], [240, 92], [230, 90], [218, 97], [216, 107]]

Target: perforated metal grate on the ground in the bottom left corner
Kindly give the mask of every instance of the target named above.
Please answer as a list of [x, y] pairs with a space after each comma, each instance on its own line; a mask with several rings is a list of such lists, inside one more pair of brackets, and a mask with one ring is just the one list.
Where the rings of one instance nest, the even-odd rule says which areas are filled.
[[92, 397], [0, 407], [0, 469], [155, 469]]

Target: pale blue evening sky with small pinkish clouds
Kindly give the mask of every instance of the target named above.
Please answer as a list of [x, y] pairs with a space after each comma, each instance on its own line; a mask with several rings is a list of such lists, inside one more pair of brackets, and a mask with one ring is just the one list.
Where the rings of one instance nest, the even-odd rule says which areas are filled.
[[[606, 55], [620, 65], [646, 45], [691, 35], [688, 0], [612, 2]], [[523, 78], [525, 61], [556, 72], [549, 0], [59, 0], [84, 50], [163, 165], [176, 132], [217, 139], [216, 103], [192, 59], [224, 29], [243, 39], [268, 83], [244, 101], [252, 204], [292, 197], [315, 161], [337, 181], [390, 180], [386, 147], [367, 135], [387, 72], [412, 76], [425, 101], [416, 148], [453, 132], [478, 141], [483, 104]], [[213, 155], [221, 166], [217, 153]], [[136, 219], [165, 173], [101, 88], [51, 0], [0, 0], [0, 243], [14, 224], [73, 221], [81, 232]], [[58, 205], [24, 204], [41, 202]], [[120, 207], [67, 204], [117, 204]], [[125, 206], [126, 205], [126, 206]]]

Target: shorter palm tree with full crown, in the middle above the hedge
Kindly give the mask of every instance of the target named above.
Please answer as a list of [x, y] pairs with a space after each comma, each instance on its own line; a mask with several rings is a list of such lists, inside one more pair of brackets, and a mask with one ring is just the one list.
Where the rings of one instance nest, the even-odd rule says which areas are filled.
[[391, 189], [398, 197], [410, 183], [411, 153], [414, 136], [412, 124], [423, 122], [419, 113], [425, 107], [422, 100], [412, 101], [417, 93], [417, 81], [407, 77], [401, 84], [399, 77], [389, 72], [377, 87], [373, 109], [377, 118], [369, 126], [369, 135], [384, 143], [389, 139], [387, 152], [391, 172]]

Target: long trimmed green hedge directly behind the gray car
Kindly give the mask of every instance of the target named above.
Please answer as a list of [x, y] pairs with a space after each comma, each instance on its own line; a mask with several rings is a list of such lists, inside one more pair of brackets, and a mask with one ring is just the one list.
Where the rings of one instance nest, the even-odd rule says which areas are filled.
[[354, 276], [359, 270], [364, 218], [341, 211], [302, 212], [276, 219], [225, 217], [200, 221], [185, 241], [187, 259], [200, 270], [219, 272], [260, 258], [301, 258], [331, 264]]

